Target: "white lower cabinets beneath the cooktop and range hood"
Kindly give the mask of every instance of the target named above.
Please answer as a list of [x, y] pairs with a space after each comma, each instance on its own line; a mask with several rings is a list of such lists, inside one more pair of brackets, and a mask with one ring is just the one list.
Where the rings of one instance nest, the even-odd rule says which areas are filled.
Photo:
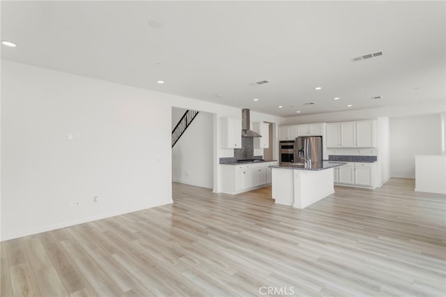
[[222, 192], [238, 194], [269, 185], [272, 172], [269, 166], [274, 165], [279, 165], [279, 162], [222, 165]]

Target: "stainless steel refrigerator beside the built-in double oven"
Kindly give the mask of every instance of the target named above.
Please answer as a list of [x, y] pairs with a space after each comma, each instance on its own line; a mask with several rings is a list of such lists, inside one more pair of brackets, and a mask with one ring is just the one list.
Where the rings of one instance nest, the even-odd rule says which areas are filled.
[[294, 162], [312, 160], [312, 163], [323, 162], [322, 136], [297, 137], [294, 146]]

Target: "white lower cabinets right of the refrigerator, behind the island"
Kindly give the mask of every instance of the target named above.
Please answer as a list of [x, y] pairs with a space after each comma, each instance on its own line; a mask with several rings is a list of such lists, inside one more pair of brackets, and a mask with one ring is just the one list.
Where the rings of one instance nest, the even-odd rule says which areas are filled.
[[346, 162], [346, 165], [333, 169], [334, 183], [376, 188], [376, 162]]

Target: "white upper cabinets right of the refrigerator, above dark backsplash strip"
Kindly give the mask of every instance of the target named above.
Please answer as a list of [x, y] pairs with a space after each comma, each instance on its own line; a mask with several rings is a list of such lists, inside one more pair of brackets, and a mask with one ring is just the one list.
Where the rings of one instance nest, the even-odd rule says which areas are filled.
[[326, 137], [328, 148], [375, 147], [376, 121], [328, 123]]

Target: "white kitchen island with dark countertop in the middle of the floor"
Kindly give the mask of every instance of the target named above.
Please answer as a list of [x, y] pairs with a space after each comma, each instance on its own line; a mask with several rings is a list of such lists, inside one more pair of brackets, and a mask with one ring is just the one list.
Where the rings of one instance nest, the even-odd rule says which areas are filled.
[[272, 198], [275, 203], [305, 208], [334, 193], [333, 168], [339, 162], [272, 166]]

